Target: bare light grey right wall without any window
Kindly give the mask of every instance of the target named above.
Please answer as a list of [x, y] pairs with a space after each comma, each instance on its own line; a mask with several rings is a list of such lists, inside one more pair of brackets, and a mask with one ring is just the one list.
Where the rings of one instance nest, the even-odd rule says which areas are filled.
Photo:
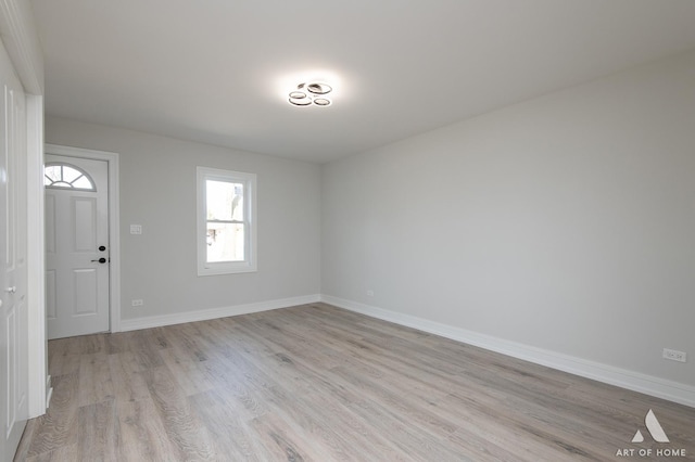
[[695, 386], [695, 53], [325, 165], [321, 184], [324, 294]]

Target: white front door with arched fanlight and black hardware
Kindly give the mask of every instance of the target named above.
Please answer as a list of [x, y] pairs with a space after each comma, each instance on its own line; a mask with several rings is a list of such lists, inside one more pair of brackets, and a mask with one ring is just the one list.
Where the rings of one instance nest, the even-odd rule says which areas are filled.
[[47, 154], [48, 337], [109, 330], [109, 165]]

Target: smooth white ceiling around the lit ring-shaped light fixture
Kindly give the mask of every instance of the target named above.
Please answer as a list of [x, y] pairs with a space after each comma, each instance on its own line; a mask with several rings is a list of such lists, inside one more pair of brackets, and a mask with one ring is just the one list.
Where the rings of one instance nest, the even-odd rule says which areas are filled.
[[694, 0], [31, 4], [49, 115], [314, 162], [695, 48]]

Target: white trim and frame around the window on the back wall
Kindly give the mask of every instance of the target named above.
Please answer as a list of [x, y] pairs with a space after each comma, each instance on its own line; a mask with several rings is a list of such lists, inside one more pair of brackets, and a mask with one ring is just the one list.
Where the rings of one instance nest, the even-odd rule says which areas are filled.
[[[244, 184], [245, 252], [243, 261], [207, 262], [206, 180]], [[198, 167], [198, 275], [232, 274], [257, 271], [256, 175], [218, 168]]]

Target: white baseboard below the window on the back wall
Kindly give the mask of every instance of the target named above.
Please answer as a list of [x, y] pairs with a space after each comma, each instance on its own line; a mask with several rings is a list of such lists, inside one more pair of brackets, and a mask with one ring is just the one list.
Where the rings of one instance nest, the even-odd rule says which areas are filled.
[[138, 331], [140, 329], [161, 328], [163, 325], [182, 324], [185, 322], [206, 321], [210, 319], [227, 318], [229, 316], [249, 315], [252, 312], [289, 308], [298, 305], [315, 304], [317, 301], [320, 301], [320, 295], [305, 295], [302, 297], [281, 298], [277, 300], [258, 301], [230, 307], [124, 319], [121, 321], [121, 331]]

